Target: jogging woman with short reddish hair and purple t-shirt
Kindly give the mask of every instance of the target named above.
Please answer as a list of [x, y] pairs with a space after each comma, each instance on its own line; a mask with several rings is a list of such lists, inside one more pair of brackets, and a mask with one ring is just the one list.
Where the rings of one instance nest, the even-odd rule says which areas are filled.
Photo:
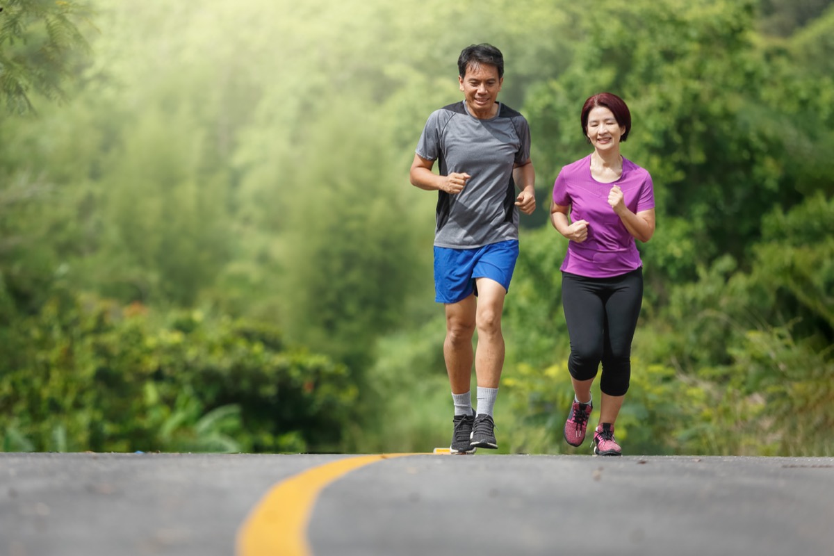
[[649, 173], [620, 155], [620, 143], [631, 131], [631, 113], [621, 98], [611, 93], [588, 98], [581, 122], [594, 152], [561, 169], [550, 210], [550, 222], [570, 240], [561, 266], [562, 306], [575, 395], [565, 440], [571, 446], [585, 441], [593, 409], [590, 386], [601, 361], [594, 453], [619, 456], [614, 424], [629, 386], [631, 340], [643, 302], [635, 239], [647, 242], [655, 233], [654, 189]]

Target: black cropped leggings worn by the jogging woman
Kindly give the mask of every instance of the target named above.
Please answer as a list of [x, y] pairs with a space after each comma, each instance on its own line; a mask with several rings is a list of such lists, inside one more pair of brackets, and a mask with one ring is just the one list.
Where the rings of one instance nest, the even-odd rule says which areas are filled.
[[631, 340], [642, 304], [642, 268], [613, 278], [562, 273], [570, 376], [595, 378], [601, 361], [600, 390], [610, 396], [624, 395], [631, 379]]

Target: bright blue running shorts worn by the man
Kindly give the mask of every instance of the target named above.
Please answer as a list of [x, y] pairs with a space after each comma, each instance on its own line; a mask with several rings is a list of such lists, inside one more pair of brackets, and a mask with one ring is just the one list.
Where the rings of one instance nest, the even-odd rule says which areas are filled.
[[435, 301], [458, 303], [478, 295], [475, 278], [490, 278], [510, 291], [519, 241], [509, 239], [474, 249], [435, 247]]

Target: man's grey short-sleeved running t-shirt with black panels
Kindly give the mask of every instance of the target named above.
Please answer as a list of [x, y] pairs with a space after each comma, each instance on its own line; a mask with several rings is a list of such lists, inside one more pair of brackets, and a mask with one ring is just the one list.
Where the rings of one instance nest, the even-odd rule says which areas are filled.
[[499, 103], [495, 118], [470, 115], [465, 102], [436, 110], [425, 123], [416, 153], [440, 162], [440, 175], [468, 173], [456, 195], [438, 192], [435, 246], [479, 248], [519, 237], [513, 165], [530, 160], [530, 127]]

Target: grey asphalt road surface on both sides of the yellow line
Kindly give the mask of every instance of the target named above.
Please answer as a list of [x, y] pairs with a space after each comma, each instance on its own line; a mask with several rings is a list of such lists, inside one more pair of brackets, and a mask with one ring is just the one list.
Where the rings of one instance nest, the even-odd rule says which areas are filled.
[[[234, 554], [276, 485], [345, 458], [0, 453], [0, 555]], [[834, 458], [420, 454], [314, 502], [315, 556], [834, 556]]]

